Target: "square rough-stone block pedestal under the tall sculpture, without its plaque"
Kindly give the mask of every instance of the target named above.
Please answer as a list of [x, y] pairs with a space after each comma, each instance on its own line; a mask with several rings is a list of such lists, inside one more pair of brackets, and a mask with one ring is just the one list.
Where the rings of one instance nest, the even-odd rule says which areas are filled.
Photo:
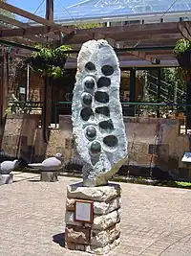
[[[94, 221], [74, 221], [75, 200], [93, 201]], [[68, 249], [103, 255], [120, 242], [120, 186], [82, 187], [76, 183], [67, 187], [65, 244]]]

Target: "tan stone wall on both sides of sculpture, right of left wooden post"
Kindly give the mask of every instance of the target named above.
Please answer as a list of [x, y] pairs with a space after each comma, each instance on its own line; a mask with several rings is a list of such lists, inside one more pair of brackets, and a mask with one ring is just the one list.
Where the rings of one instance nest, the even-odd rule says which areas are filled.
[[[179, 119], [124, 117], [128, 140], [128, 165], [132, 175], [148, 175], [150, 167], [174, 171], [180, 177], [191, 177], [181, 162], [184, 151], [190, 151], [190, 136], [180, 134]], [[51, 130], [47, 155], [62, 152], [67, 160], [76, 155], [70, 116], [59, 117], [59, 129]], [[136, 168], [135, 168], [136, 167]], [[124, 170], [127, 172], [127, 168]], [[141, 173], [142, 172], [142, 173]], [[124, 172], [123, 172], [124, 173]]]

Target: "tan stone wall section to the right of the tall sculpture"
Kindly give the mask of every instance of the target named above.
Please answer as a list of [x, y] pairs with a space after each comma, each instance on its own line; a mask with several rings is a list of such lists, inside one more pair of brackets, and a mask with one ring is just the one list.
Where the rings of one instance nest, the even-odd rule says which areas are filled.
[[156, 166], [182, 176], [181, 169], [187, 167], [181, 157], [190, 151], [190, 142], [188, 135], [180, 134], [178, 119], [126, 117], [124, 122], [131, 166]]

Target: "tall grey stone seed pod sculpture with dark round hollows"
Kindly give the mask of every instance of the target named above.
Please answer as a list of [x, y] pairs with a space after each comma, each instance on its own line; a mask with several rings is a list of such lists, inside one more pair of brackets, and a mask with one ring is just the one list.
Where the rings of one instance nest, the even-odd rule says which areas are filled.
[[119, 101], [120, 69], [106, 40], [82, 45], [75, 79], [73, 133], [77, 151], [85, 161], [83, 185], [104, 185], [127, 157]]

